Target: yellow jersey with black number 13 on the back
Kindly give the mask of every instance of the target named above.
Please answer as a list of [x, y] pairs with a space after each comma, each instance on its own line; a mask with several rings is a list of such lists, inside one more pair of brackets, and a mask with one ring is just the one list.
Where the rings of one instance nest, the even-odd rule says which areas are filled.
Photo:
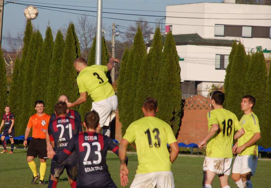
[[169, 124], [159, 118], [144, 117], [131, 123], [123, 138], [136, 144], [137, 174], [171, 171], [167, 144], [177, 141]]

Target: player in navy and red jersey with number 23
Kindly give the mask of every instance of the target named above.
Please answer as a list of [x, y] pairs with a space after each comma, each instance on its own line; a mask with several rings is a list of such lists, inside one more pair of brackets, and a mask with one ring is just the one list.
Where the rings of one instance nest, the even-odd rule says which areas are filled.
[[[62, 163], [75, 150], [77, 155], [78, 188], [116, 188], [106, 165], [107, 150], [118, 155], [118, 146], [107, 136], [96, 133], [99, 126], [99, 115], [96, 111], [88, 112], [84, 119], [87, 131], [75, 135], [68, 146], [59, 155], [48, 151], [48, 157]], [[126, 158], [126, 161], [128, 159]]]

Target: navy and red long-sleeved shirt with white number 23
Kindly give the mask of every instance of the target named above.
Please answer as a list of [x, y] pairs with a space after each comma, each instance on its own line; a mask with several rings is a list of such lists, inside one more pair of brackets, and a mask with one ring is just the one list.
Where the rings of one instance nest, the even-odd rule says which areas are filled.
[[[107, 150], [118, 155], [118, 146], [108, 136], [87, 131], [75, 135], [53, 160], [62, 163], [74, 150], [77, 156], [77, 185], [85, 186], [111, 178], [106, 165]], [[127, 159], [128, 160], [128, 159]]]

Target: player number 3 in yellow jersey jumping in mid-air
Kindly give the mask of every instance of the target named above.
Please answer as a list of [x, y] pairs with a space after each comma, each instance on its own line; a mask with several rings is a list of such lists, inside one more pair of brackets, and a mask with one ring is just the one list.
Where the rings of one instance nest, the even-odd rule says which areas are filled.
[[[74, 60], [74, 68], [79, 73], [77, 77], [77, 85], [79, 88], [80, 97], [73, 103], [68, 102], [68, 107], [74, 107], [82, 104], [87, 100], [87, 95], [90, 95], [92, 100], [92, 109], [98, 112], [100, 116], [100, 127], [97, 128], [97, 133], [103, 127], [103, 134], [110, 136], [109, 124], [116, 116], [118, 99], [115, 95], [113, 87], [108, 82], [106, 72], [112, 70], [114, 62], [119, 60], [111, 58], [104, 65], [87, 65], [87, 61], [79, 57]], [[90, 110], [90, 109], [89, 109]]]

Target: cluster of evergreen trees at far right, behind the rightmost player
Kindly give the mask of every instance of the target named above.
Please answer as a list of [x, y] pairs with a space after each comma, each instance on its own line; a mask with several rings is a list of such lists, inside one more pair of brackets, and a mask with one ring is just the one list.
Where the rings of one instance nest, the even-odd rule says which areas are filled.
[[[271, 66], [270, 66], [271, 67]], [[241, 119], [241, 98], [243, 95], [252, 95], [256, 98], [253, 112], [259, 119], [262, 139], [259, 145], [270, 147], [271, 122], [271, 74], [267, 74], [263, 52], [247, 55], [244, 45], [236, 41], [232, 44], [229, 55], [229, 64], [226, 69], [224, 90], [224, 108], [235, 113]]]

